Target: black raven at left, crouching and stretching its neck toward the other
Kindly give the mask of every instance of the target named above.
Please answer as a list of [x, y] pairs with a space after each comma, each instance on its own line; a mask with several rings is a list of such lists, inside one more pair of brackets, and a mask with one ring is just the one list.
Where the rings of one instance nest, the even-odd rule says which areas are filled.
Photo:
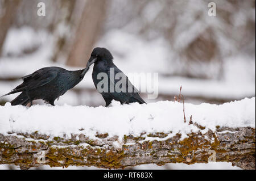
[[32, 105], [32, 100], [36, 99], [43, 99], [54, 106], [55, 99], [76, 86], [88, 70], [69, 71], [56, 66], [42, 68], [22, 77], [23, 83], [5, 95], [22, 92], [11, 101], [12, 106], [26, 106], [28, 103]]

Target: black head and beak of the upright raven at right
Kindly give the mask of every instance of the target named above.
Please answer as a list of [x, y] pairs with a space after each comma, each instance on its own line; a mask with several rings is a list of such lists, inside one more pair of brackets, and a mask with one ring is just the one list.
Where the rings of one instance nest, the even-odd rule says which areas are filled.
[[88, 60], [86, 67], [89, 68], [90, 65], [101, 60], [112, 61], [113, 56], [106, 48], [94, 48], [92, 54], [90, 54], [90, 59]]

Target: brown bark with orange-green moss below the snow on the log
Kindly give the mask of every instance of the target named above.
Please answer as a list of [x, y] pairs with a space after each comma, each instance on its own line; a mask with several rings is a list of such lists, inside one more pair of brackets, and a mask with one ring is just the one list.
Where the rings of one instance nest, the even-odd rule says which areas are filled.
[[0, 164], [20, 169], [39, 165], [96, 166], [118, 169], [147, 163], [232, 162], [242, 169], [255, 169], [255, 128], [218, 128], [188, 134], [142, 133], [140, 137], [109, 137], [97, 134], [90, 140], [84, 134], [71, 138], [49, 137], [34, 132], [0, 134]]

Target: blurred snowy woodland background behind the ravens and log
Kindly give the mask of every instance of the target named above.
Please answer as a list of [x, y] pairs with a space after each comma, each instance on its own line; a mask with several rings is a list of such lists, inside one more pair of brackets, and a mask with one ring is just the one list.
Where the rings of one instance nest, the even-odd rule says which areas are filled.
[[[39, 2], [46, 16], [37, 15]], [[208, 15], [209, 2], [216, 3], [216, 16]], [[159, 96], [142, 94], [146, 102], [174, 100], [181, 85], [185, 102], [194, 104], [255, 96], [255, 0], [0, 0], [0, 95], [45, 66], [84, 68], [94, 47], [108, 48], [126, 74], [158, 73]], [[91, 74], [55, 103], [105, 105]], [[15, 96], [0, 98], [0, 105]], [[215, 163], [134, 169], [238, 168]]]

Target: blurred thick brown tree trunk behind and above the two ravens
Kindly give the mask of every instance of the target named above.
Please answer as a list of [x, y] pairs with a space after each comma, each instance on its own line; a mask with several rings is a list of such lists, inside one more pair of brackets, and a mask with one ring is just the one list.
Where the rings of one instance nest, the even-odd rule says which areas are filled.
[[107, 3], [102, 1], [86, 1], [79, 21], [75, 40], [68, 56], [70, 66], [85, 66], [93, 49], [93, 45], [100, 35], [106, 15]]

